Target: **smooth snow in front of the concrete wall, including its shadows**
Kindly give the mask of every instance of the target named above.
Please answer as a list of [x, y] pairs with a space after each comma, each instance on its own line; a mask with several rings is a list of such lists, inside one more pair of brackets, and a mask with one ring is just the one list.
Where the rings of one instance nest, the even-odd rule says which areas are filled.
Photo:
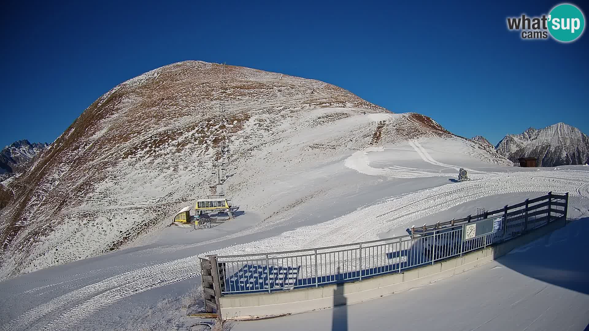
[[250, 322], [247, 330], [586, 330], [589, 218], [468, 272], [362, 303]]

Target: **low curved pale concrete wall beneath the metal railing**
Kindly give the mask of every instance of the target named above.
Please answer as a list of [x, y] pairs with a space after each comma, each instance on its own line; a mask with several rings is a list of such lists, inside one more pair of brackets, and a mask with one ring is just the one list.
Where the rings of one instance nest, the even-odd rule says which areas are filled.
[[564, 225], [563, 218], [505, 243], [402, 273], [306, 289], [224, 296], [220, 298], [221, 316], [223, 319], [251, 319], [302, 313], [411, 289], [491, 262]]

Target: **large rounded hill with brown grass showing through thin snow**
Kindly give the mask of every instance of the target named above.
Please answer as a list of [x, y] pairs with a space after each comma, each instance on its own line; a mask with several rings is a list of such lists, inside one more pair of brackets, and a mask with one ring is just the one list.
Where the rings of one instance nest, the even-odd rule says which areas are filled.
[[166, 226], [209, 194], [222, 148], [228, 194], [267, 223], [309, 212], [314, 197], [342, 186], [353, 190], [321, 176], [352, 171], [343, 160], [356, 151], [422, 137], [451, 140], [484, 163], [506, 161], [429, 117], [393, 114], [325, 82], [201, 61], [166, 65], [102, 95], [7, 184], [15, 196], [0, 210], [0, 277], [95, 256]]

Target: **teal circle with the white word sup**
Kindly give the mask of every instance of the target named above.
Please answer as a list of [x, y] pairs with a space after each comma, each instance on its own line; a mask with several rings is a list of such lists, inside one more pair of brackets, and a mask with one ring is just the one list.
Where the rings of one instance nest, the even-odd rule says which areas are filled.
[[575, 5], [557, 5], [548, 15], [548, 31], [558, 41], [573, 41], [583, 34], [584, 28], [585, 16]]

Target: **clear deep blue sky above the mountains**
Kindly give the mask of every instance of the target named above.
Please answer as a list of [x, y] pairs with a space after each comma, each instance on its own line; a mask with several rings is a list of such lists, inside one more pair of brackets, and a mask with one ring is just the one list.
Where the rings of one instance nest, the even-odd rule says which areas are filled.
[[326, 81], [493, 144], [557, 122], [589, 133], [589, 35], [524, 41], [506, 27], [556, 4], [9, 2], [0, 145], [51, 143], [110, 88], [187, 59]]

